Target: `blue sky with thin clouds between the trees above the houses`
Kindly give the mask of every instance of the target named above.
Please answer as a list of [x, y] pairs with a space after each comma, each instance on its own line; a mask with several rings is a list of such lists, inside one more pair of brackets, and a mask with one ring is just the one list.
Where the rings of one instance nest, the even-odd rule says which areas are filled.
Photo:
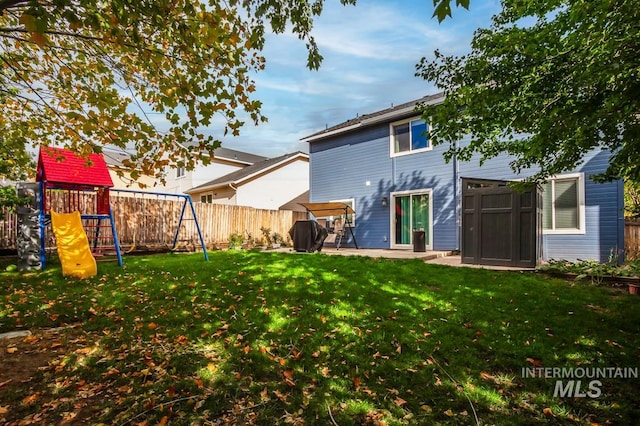
[[431, 18], [432, 0], [358, 0], [355, 7], [326, 0], [313, 31], [324, 56], [320, 70], [306, 68], [297, 37], [270, 35], [266, 70], [255, 76], [269, 122], [246, 124], [223, 146], [269, 157], [304, 151], [300, 139], [325, 126], [436, 93], [414, 76], [415, 65], [435, 49], [467, 53], [473, 32], [488, 27], [499, 10], [499, 0], [476, 0], [439, 24]]

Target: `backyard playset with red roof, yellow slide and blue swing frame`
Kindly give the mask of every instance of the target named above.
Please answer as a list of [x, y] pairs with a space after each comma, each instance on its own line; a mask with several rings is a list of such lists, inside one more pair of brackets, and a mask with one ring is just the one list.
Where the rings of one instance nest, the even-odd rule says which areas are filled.
[[[173, 249], [177, 247], [183, 221], [188, 220], [185, 217], [188, 204], [205, 260], [208, 260], [191, 197], [113, 189], [109, 169], [101, 154], [93, 153], [83, 158], [66, 149], [42, 147], [38, 156], [36, 182], [37, 186], [29, 187], [27, 184], [22, 187], [23, 193], [29, 194], [30, 190], [33, 202], [22, 209], [22, 218], [19, 219], [22, 229], [18, 239], [22, 237], [23, 241], [18, 244], [21, 269], [46, 267], [49, 228], [65, 276], [85, 278], [96, 275], [97, 259], [115, 259], [122, 266], [122, 250], [110, 202], [112, 192], [124, 192], [129, 196], [162, 195], [183, 200]], [[20, 217], [21, 211], [18, 213]], [[37, 229], [34, 229], [36, 224]], [[34, 234], [37, 234], [37, 238]], [[36, 240], [39, 247], [34, 247]]]

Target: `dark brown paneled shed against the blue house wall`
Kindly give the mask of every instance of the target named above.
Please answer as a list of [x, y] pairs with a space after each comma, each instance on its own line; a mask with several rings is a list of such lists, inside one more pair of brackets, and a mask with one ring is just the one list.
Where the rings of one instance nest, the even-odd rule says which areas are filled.
[[462, 263], [534, 267], [541, 258], [540, 190], [507, 184], [462, 179]]

